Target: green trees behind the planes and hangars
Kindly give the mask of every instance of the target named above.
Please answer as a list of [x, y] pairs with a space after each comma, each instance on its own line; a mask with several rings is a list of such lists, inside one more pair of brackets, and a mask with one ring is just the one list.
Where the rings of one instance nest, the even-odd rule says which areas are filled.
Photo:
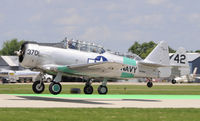
[[[2, 49], [0, 50], [0, 55], [16, 55], [15, 51], [20, 49], [20, 46], [24, 40], [18, 41], [17, 39], [7, 40], [3, 43]], [[135, 53], [139, 55], [141, 58], [145, 58], [156, 46], [157, 44], [154, 41], [150, 42], [134, 42], [133, 45], [128, 49], [128, 52]], [[176, 50], [169, 47], [169, 52], [174, 53]], [[193, 52], [193, 51], [190, 51]], [[200, 50], [196, 50], [195, 52], [200, 53]]]

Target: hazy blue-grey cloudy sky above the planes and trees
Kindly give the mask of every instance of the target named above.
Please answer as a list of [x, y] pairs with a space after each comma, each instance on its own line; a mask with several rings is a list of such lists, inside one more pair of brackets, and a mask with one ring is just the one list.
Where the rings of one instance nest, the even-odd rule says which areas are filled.
[[65, 37], [126, 52], [135, 41], [200, 49], [199, 0], [1, 0], [6, 40], [59, 42]]

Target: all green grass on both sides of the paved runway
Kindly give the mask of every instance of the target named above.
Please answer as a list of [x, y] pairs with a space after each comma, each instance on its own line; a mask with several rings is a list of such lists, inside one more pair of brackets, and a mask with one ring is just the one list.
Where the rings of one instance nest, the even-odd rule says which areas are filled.
[[[63, 85], [62, 94], [84, 84]], [[98, 85], [94, 85], [97, 94]], [[108, 94], [200, 95], [200, 85], [108, 85]], [[33, 94], [31, 84], [0, 85], [0, 94]], [[48, 84], [44, 94], [49, 94]], [[199, 121], [200, 109], [0, 108], [0, 121]]]

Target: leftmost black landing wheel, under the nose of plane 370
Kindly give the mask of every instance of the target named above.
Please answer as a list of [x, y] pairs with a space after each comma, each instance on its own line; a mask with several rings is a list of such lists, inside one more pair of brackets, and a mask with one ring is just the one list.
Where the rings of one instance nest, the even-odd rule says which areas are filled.
[[35, 81], [32, 85], [33, 92], [40, 94], [44, 91], [45, 86], [43, 82]]

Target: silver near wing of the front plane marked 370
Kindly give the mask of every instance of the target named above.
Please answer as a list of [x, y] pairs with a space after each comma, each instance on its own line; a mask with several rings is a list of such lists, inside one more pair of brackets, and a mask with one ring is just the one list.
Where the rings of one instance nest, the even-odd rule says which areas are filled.
[[120, 70], [124, 67], [124, 64], [117, 62], [99, 62], [70, 66], [46, 65], [43, 69], [68, 75], [113, 78], [121, 75]]

